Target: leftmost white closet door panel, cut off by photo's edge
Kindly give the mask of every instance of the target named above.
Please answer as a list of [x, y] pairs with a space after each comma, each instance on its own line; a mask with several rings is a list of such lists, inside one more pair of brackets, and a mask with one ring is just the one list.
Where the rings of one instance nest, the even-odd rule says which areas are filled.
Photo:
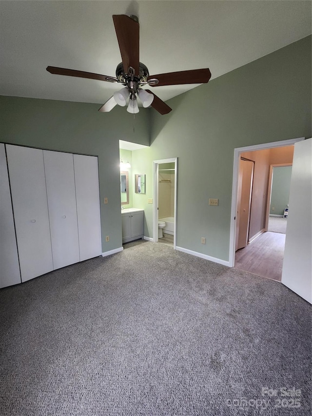
[[20, 283], [12, 202], [4, 144], [0, 143], [0, 288]]

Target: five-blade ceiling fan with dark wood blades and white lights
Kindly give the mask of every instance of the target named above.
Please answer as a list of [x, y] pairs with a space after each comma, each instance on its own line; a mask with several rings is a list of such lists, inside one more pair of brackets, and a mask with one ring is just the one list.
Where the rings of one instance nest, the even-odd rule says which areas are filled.
[[139, 23], [137, 16], [113, 15], [113, 21], [122, 59], [122, 62], [117, 65], [116, 78], [55, 66], [46, 68], [51, 74], [98, 79], [122, 84], [124, 87], [120, 91], [116, 91], [113, 97], [108, 99], [98, 111], [106, 113], [111, 111], [117, 104], [125, 106], [129, 98], [127, 111], [134, 114], [138, 113], [138, 97], [142, 101], [143, 107], [151, 105], [160, 114], [168, 114], [172, 108], [152, 93], [152, 91], [143, 89], [143, 86], [159, 87], [163, 85], [201, 84], [208, 82], [211, 78], [208, 68], [150, 76], [147, 67], [142, 62], [139, 62]]

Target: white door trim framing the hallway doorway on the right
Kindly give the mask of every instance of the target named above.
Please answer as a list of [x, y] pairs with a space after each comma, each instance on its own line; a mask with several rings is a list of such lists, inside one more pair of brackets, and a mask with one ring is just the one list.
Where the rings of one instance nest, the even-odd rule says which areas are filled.
[[240, 154], [243, 152], [252, 152], [254, 150], [271, 149], [273, 147], [290, 146], [298, 141], [304, 140], [304, 137], [273, 141], [271, 143], [255, 144], [253, 146], [236, 147], [234, 149], [233, 163], [233, 182], [232, 182], [232, 206], [231, 206], [231, 225], [230, 225], [230, 247], [229, 247], [229, 266], [234, 267], [235, 261], [235, 215], [237, 204], [237, 184], [238, 184], [238, 166]]

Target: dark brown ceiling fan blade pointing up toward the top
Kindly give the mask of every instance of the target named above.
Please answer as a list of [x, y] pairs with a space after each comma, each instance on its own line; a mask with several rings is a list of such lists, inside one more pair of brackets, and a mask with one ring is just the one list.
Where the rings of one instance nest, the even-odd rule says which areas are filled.
[[123, 69], [128, 73], [131, 66], [139, 75], [139, 24], [126, 15], [113, 15]]

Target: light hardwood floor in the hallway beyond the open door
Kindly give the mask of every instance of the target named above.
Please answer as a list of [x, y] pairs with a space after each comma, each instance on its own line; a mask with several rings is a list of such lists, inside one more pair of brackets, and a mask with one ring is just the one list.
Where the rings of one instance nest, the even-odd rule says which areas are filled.
[[285, 234], [267, 231], [235, 253], [234, 267], [281, 281]]

